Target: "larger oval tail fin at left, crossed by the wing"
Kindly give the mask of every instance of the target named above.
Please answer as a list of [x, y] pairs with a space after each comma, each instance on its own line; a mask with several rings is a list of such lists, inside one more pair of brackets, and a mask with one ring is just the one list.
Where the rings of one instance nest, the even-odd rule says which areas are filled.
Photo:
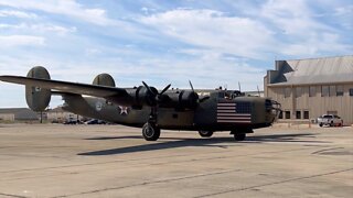
[[[47, 70], [42, 66], [33, 67], [26, 75], [31, 78], [51, 79]], [[44, 111], [51, 101], [51, 89], [25, 86], [25, 101], [33, 111]]]

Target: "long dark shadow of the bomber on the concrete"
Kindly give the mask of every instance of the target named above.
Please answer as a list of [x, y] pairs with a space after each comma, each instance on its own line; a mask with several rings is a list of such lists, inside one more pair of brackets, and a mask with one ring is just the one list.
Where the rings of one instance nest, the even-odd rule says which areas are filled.
[[[300, 138], [306, 138], [306, 140], [300, 140]], [[171, 140], [171, 141], [78, 153], [77, 155], [86, 155], [86, 156], [116, 155], [116, 154], [178, 148], [178, 147], [186, 147], [186, 146], [214, 146], [214, 147], [226, 148], [228, 146], [243, 146], [244, 144], [248, 144], [248, 143], [270, 143], [270, 142], [328, 143], [324, 141], [308, 140], [308, 139], [314, 139], [314, 138], [315, 138], [315, 134], [313, 133], [254, 135], [254, 136], [246, 138], [246, 141], [244, 142], [235, 142], [233, 138], [211, 138], [211, 139], [160, 138], [160, 141], [164, 141], [164, 140]], [[98, 138], [89, 138], [86, 140], [115, 140], [115, 139], [121, 140], [121, 139], [142, 139], [142, 138], [139, 135], [98, 136]]]

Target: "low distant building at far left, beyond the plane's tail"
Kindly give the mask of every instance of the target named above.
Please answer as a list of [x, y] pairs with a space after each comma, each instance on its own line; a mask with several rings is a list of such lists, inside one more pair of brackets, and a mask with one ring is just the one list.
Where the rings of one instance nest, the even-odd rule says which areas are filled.
[[39, 120], [39, 114], [28, 108], [6, 108], [6, 109], [0, 109], [0, 120], [3, 120], [3, 121]]

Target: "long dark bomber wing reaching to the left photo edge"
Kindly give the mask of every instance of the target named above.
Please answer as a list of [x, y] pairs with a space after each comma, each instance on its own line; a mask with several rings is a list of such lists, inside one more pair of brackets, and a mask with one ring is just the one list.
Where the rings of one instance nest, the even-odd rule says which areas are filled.
[[101, 97], [101, 98], [129, 97], [126, 89], [99, 86], [99, 85], [78, 84], [78, 82], [60, 81], [60, 80], [52, 80], [52, 79], [39, 79], [39, 78], [22, 77], [22, 76], [0, 76], [0, 80], [12, 82], [12, 84], [40, 87], [44, 89], [53, 89], [62, 92], [88, 95], [88, 96]]

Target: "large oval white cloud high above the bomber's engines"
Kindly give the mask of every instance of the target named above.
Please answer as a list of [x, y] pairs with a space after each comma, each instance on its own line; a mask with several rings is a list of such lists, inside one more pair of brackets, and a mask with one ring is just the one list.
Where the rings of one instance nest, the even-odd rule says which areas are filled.
[[188, 44], [245, 57], [261, 56], [272, 42], [271, 31], [261, 23], [214, 10], [172, 10], [141, 22]]

